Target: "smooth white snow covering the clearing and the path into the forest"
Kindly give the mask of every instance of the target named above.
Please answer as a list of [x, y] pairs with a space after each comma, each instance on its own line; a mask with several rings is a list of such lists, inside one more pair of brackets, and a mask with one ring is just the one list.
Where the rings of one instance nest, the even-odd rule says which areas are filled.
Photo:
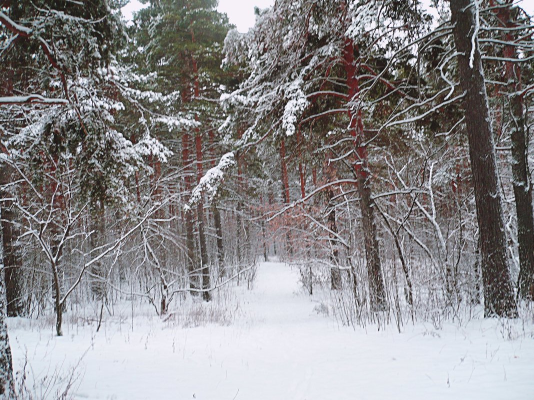
[[43, 379], [79, 362], [76, 399], [534, 399], [534, 339], [515, 334], [523, 327], [355, 330], [318, 315], [298, 278], [283, 263], [262, 263], [254, 289], [236, 289], [242, 312], [229, 326], [139, 317], [132, 330], [110, 318], [99, 333], [66, 326], [57, 338], [51, 326], [27, 331], [12, 320], [15, 369], [27, 357], [29, 375]]

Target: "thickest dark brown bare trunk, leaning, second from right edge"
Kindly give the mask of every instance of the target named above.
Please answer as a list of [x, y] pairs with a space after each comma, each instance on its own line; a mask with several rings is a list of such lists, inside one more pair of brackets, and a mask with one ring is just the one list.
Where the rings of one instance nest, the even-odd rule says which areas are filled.
[[498, 187], [497, 164], [490, 125], [488, 97], [481, 53], [475, 37], [475, 14], [469, 0], [450, 1], [454, 43], [458, 56], [460, 87], [473, 171], [478, 228], [481, 235], [481, 267], [485, 316], [516, 317], [506, 255], [506, 237]]

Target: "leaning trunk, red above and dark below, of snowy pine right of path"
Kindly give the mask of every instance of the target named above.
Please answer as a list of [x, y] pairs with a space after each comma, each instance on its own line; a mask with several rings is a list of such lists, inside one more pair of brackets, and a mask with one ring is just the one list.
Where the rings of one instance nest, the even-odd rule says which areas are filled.
[[[344, 61], [349, 87], [349, 100], [353, 100], [359, 93], [359, 83], [356, 77], [354, 59], [354, 43], [350, 40], [345, 44]], [[364, 146], [364, 132], [362, 113], [349, 108], [350, 132], [355, 139], [356, 146], [356, 175], [358, 179], [358, 194], [360, 196], [360, 210], [362, 212], [362, 228], [364, 231], [365, 259], [367, 261], [367, 276], [371, 308], [373, 310], [387, 309], [386, 291], [382, 278], [379, 244], [376, 239], [376, 223], [374, 221], [374, 201], [371, 197], [371, 173], [367, 162], [367, 148]]]

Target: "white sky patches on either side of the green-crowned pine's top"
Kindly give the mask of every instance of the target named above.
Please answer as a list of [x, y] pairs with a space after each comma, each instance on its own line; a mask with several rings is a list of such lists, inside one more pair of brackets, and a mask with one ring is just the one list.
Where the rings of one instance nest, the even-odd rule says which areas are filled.
[[[274, 0], [219, 0], [217, 9], [220, 12], [225, 12], [230, 19], [230, 22], [233, 23], [240, 32], [246, 32], [256, 21], [254, 6], [264, 9], [273, 4]], [[130, 3], [122, 8], [122, 14], [127, 21], [130, 21], [132, 19], [132, 12], [138, 11], [143, 7], [143, 4], [141, 4], [139, 0], [131, 0]]]

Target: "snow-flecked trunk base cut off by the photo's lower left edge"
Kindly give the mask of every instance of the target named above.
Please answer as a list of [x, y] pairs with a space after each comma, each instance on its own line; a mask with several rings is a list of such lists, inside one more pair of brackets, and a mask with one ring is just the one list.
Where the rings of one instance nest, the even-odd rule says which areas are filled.
[[[0, 166], [3, 170], [5, 165]], [[3, 171], [2, 171], [3, 172]], [[0, 207], [0, 217], [4, 217], [3, 206]], [[0, 398], [10, 398], [9, 393], [13, 384], [13, 362], [11, 347], [7, 335], [7, 298], [4, 280], [4, 235], [0, 229]]]

